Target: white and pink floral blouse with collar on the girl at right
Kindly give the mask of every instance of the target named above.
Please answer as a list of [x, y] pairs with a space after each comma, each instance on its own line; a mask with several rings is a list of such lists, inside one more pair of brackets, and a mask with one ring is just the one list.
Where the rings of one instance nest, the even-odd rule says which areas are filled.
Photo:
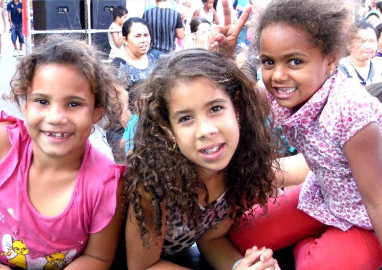
[[276, 125], [311, 169], [298, 209], [342, 230], [373, 230], [342, 148], [367, 124], [382, 127], [382, 103], [337, 71], [297, 112], [280, 107], [270, 94], [268, 99]]

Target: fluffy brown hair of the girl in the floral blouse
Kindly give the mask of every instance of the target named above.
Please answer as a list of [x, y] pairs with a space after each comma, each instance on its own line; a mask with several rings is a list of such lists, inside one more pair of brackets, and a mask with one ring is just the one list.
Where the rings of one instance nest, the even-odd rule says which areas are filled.
[[346, 49], [345, 32], [351, 23], [350, 4], [346, 0], [273, 0], [263, 11], [255, 27], [256, 49], [260, 48], [263, 29], [276, 23], [287, 23], [302, 29], [314, 47], [323, 55]]

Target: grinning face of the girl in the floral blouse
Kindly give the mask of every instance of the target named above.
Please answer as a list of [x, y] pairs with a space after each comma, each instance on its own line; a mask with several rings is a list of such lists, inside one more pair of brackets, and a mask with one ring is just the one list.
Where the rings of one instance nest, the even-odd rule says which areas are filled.
[[307, 36], [301, 29], [276, 23], [260, 37], [263, 82], [281, 107], [301, 108], [334, 71], [336, 58], [322, 55]]

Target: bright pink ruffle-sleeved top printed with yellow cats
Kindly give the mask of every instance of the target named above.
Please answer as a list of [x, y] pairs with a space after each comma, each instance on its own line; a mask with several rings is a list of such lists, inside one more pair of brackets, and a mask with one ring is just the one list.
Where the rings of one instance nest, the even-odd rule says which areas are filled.
[[[65, 258], [55, 264], [62, 269], [81, 255], [89, 234], [101, 231], [112, 219], [123, 166], [99, 153], [88, 141], [70, 203], [58, 216], [42, 216], [27, 193], [33, 152], [24, 123], [5, 112], [1, 112], [0, 121], [14, 122], [7, 126], [12, 148], [0, 162], [1, 251], [10, 253], [2, 253], [0, 263], [15, 265], [16, 258], [22, 264], [25, 261], [28, 269], [43, 269], [48, 263], [46, 256], [63, 252]], [[13, 239], [28, 252], [18, 255]]]

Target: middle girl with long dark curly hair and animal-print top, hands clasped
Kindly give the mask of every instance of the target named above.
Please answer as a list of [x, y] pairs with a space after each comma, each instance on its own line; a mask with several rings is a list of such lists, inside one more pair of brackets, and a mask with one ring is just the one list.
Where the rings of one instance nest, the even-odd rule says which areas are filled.
[[227, 57], [193, 48], [159, 60], [140, 88], [124, 176], [129, 269], [180, 269], [166, 258], [195, 241], [214, 269], [280, 269], [270, 249], [243, 258], [226, 237], [272, 196], [277, 153], [266, 109]]

